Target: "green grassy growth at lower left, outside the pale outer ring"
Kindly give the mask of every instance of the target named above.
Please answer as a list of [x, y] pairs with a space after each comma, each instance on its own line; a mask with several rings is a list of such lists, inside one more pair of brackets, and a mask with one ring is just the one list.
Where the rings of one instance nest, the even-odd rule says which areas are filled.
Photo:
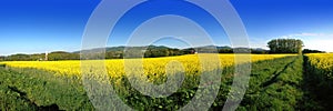
[[2, 110], [93, 109], [79, 82], [36, 69], [0, 68]]

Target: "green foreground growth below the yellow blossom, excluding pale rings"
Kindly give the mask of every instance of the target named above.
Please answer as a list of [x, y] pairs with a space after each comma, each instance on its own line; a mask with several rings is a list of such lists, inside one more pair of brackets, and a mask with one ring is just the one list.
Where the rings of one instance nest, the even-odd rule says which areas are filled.
[[[325, 95], [330, 97], [333, 81], [320, 80], [324, 72], [314, 74], [312, 69], [306, 56], [253, 62], [249, 88], [236, 110], [332, 110], [333, 100]], [[233, 82], [233, 67], [222, 72], [220, 92], [210, 110], [223, 108]], [[4, 64], [0, 65], [0, 77], [1, 110], [95, 110], [82, 81], [75, 77], [57, 77], [51, 71]], [[199, 77], [185, 78], [182, 87], [168, 98], [143, 95], [129, 85], [127, 79], [115, 89], [122, 101], [133, 109], [176, 110], [199, 90]], [[320, 88], [317, 82], [321, 82]]]

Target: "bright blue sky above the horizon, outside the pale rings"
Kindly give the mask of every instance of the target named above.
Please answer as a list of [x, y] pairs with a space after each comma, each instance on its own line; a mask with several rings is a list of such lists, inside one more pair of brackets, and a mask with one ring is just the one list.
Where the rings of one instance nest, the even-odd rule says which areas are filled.
[[[296, 38], [304, 41], [305, 48], [333, 51], [332, 0], [230, 1], [243, 20], [253, 48], [266, 49], [266, 42], [274, 38]], [[85, 23], [99, 2], [1, 0], [0, 56], [80, 50]], [[229, 44], [226, 39], [212, 40], [218, 46]], [[163, 40], [160, 44], [179, 43]], [[121, 44], [121, 40], [109, 43]]]

